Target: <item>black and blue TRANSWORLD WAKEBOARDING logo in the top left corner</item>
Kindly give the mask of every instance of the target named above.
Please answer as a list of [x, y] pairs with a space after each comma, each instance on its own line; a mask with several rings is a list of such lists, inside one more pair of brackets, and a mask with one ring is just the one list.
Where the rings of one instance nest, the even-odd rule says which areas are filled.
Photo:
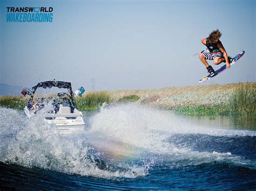
[[6, 22], [42, 23], [52, 22], [52, 7], [6, 7]]

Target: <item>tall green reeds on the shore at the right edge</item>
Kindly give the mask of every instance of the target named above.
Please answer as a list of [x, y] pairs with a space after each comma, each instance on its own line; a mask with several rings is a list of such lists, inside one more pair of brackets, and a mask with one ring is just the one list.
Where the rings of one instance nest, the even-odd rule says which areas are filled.
[[230, 105], [234, 114], [245, 117], [255, 116], [256, 91], [252, 88], [252, 84], [239, 83], [238, 90], [231, 97]]

